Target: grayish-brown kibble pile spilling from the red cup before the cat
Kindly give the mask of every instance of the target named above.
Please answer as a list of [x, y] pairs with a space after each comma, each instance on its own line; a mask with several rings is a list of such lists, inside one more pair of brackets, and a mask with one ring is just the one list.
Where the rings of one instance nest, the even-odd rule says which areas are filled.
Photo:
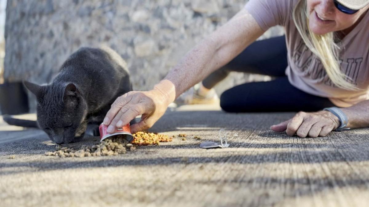
[[135, 150], [135, 147], [132, 144], [128, 144], [125, 138], [117, 136], [112, 139], [105, 139], [104, 141], [101, 141], [100, 144], [92, 146], [82, 145], [80, 149], [71, 149], [56, 145], [56, 151], [45, 152], [45, 155], [59, 157], [108, 156], [125, 154], [127, 152], [126, 147], [131, 151]]

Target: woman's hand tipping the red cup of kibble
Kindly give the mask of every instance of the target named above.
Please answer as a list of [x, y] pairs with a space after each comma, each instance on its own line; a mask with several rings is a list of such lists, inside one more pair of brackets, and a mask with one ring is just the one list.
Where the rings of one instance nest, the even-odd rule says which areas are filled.
[[114, 133], [138, 115], [142, 115], [141, 121], [132, 124], [131, 133], [150, 128], [174, 101], [175, 95], [170, 94], [171, 91], [174, 91], [171, 86], [155, 87], [151, 91], [131, 91], [118, 97], [104, 119], [104, 124], [109, 125], [108, 133]]

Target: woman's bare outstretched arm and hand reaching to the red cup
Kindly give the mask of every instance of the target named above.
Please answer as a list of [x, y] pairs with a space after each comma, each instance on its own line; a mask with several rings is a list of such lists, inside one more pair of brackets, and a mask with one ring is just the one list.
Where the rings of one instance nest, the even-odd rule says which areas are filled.
[[190, 50], [151, 91], [131, 91], [118, 97], [108, 111], [104, 124], [113, 133], [138, 115], [131, 132], [151, 127], [180, 94], [230, 62], [263, 34], [254, 17], [245, 9]]

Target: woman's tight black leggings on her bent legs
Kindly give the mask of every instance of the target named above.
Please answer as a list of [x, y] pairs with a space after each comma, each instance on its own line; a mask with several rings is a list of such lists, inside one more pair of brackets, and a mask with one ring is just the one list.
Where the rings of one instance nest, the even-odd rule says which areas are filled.
[[284, 73], [287, 65], [285, 37], [265, 39], [252, 43], [202, 83], [206, 88], [213, 88], [231, 71], [276, 77], [272, 81], [245, 83], [224, 91], [220, 106], [227, 112], [311, 112], [335, 106], [328, 98], [308, 94], [291, 85]]

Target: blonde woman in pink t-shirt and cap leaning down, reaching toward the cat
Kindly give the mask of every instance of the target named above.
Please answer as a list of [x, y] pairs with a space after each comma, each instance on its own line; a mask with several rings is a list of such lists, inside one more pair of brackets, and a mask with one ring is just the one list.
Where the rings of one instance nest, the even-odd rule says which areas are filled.
[[[300, 103], [299, 110], [318, 109], [299, 112], [271, 127], [274, 131], [286, 130], [289, 136], [326, 136], [332, 130], [367, 127], [368, 4], [369, 0], [251, 0], [187, 53], [153, 90], [119, 97], [104, 124], [113, 132], [142, 114], [141, 122], [131, 126], [132, 132], [151, 127], [180, 94], [229, 63], [268, 28], [282, 25], [286, 30], [288, 78], [258, 83], [256, 92], [239, 86], [233, 104], [245, 104], [237, 105], [239, 111], [255, 109], [259, 104], [265, 110], [273, 105], [296, 108]], [[268, 93], [276, 98], [269, 102], [258, 99]], [[299, 101], [286, 101], [301, 97]], [[232, 108], [232, 102], [228, 104]], [[327, 106], [340, 108], [324, 110]]]

